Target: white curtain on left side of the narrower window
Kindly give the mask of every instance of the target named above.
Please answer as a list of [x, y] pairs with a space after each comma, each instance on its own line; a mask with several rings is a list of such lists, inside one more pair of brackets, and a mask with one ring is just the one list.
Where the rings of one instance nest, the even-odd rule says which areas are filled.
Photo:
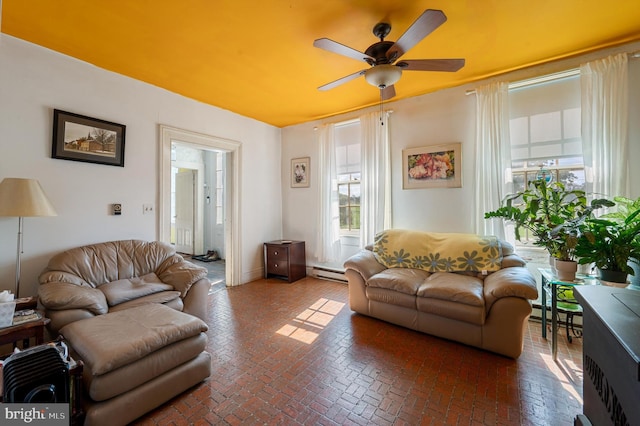
[[338, 207], [338, 179], [334, 125], [318, 129], [318, 192], [320, 195], [316, 257], [318, 262], [330, 263], [340, 259], [340, 211]]

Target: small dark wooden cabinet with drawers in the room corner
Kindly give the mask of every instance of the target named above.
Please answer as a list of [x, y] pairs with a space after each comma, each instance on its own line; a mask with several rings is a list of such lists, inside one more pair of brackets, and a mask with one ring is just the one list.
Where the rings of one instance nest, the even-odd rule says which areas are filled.
[[304, 241], [277, 240], [264, 243], [264, 277], [294, 282], [307, 276]]

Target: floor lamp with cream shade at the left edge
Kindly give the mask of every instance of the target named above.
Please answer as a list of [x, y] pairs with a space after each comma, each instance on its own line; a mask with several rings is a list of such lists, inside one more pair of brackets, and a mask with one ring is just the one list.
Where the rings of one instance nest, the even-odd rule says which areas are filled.
[[22, 220], [24, 217], [57, 216], [57, 213], [36, 179], [5, 178], [0, 182], [0, 216], [18, 218], [18, 253], [14, 294], [16, 298], [19, 298]]

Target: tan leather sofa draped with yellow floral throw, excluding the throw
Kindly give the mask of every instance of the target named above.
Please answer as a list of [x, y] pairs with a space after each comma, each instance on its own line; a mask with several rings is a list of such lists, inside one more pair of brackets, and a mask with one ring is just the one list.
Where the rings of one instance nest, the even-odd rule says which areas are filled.
[[499, 241], [500, 269], [483, 272], [427, 272], [387, 268], [372, 247], [344, 266], [351, 309], [393, 324], [517, 358], [535, 278], [513, 246]]

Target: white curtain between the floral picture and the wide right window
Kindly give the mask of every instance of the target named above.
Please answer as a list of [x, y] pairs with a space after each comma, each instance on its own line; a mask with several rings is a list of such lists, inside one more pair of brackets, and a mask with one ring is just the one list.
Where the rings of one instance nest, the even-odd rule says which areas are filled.
[[475, 232], [505, 239], [503, 221], [485, 219], [512, 190], [509, 143], [509, 85], [476, 89]]

